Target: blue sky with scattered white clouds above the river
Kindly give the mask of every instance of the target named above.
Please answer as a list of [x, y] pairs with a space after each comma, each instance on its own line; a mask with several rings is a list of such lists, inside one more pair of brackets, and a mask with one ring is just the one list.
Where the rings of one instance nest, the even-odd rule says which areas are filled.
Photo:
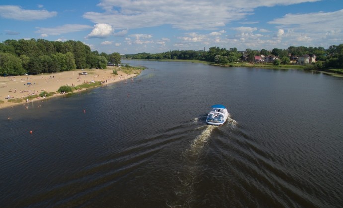
[[0, 41], [79, 40], [121, 54], [327, 48], [343, 43], [343, 0], [11, 0]]

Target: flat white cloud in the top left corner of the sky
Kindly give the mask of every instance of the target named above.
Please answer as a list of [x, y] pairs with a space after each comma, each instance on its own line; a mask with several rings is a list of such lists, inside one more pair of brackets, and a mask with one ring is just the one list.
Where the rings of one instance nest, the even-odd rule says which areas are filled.
[[57, 15], [56, 11], [47, 10], [25, 10], [20, 6], [0, 6], [0, 17], [23, 21], [42, 20]]

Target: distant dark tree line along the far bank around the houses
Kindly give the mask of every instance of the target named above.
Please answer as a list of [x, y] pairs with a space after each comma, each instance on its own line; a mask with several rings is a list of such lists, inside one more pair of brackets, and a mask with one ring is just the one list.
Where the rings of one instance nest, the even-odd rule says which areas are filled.
[[287, 49], [274, 48], [271, 51], [266, 49], [245, 51], [237, 51], [237, 48], [219, 48], [211, 47], [208, 51], [204, 50], [181, 50], [168, 51], [156, 54], [138, 53], [128, 54], [126, 58], [131, 59], [195, 59], [208, 62], [227, 65], [230, 63], [241, 61], [242, 56], [246, 57], [248, 62], [254, 62], [254, 57], [259, 55], [274, 55], [279, 57], [280, 64], [289, 64], [291, 56], [302, 56], [306, 54], [315, 54], [316, 63], [313, 64], [317, 69], [343, 69], [343, 44], [338, 46], [332, 45], [325, 49], [323, 47], [305, 47], [305, 46], [290, 46]]

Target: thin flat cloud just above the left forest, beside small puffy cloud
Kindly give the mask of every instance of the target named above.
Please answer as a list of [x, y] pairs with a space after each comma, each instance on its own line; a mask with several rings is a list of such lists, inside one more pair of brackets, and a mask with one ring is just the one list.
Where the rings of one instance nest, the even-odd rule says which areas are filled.
[[45, 28], [45, 27], [37, 27], [36, 33], [41, 33], [45, 37], [48, 35], [60, 35], [64, 33], [70, 33], [70, 32], [77, 32], [82, 30], [87, 30], [92, 28], [88, 25], [81, 25], [81, 24], [65, 24], [63, 26], [57, 26], [52, 28]]

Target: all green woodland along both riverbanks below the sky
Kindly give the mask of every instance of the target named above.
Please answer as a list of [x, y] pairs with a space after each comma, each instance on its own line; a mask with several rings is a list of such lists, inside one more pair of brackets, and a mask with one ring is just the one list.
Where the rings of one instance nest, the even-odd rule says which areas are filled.
[[[248, 62], [254, 61], [254, 56], [275, 55], [279, 57], [279, 64], [289, 64], [290, 56], [315, 54], [316, 63], [313, 69], [343, 69], [343, 44], [332, 45], [328, 49], [323, 47], [290, 46], [287, 49], [274, 48], [237, 51], [237, 48], [211, 47], [205, 50], [181, 50], [163, 53], [138, 53], [126, 55], [131, 59], [180, 59], [204, 60], [208, 62], [228, 65], [239, 62], [244, 55]], [[48, 41], [44, 39], [6, 40], [0, 43], [0, 75], [23, 75], [39, 73], [56, 73], [83, 68], [106, 68], [107, 63], [119, 64], [119, 53], [99, 53], [91, 51], [90, 47], [81, 41], [68, 40]]]

